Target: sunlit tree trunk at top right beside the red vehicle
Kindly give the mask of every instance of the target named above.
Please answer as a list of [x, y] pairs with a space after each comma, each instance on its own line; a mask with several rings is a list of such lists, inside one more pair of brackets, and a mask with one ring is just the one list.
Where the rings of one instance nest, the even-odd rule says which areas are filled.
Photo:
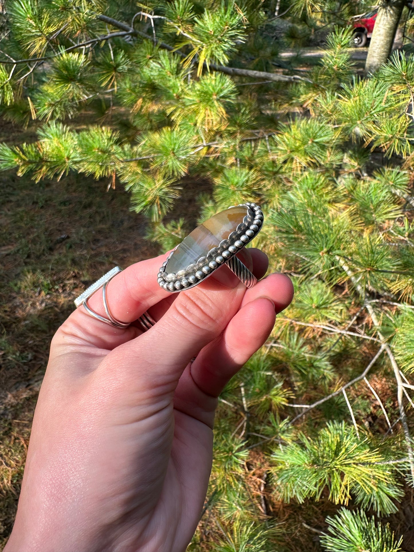
[[404, 0], [390, 0], [378, 9], [365, 62], [365, 75], [373, 73], [388, 60], [404, 5]]

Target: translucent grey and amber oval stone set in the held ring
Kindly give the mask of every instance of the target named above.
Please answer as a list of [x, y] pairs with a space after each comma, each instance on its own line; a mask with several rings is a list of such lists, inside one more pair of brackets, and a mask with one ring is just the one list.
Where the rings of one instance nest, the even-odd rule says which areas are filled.
[[246, 215], [246, 207], [230, 207], [197, 226], [172, 254], [166, 266], [167, 274], [177, 274], [189, 264], [197, 263], [200, 257], [206, 257], [210, 249], [227, 240]]

